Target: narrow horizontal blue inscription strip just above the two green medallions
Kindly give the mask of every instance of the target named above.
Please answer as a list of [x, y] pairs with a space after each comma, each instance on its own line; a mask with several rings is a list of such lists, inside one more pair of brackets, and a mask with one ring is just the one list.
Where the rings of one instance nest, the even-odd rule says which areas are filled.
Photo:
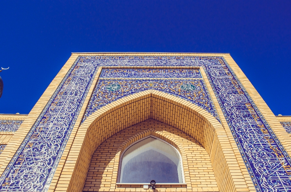
[[202, 78], [199, 69], [103, 69], [107, 78]]

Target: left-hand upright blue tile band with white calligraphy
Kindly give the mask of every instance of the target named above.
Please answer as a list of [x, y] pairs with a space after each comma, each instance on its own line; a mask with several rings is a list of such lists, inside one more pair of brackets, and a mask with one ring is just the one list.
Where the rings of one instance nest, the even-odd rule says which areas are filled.
[[75, 63], [0, 177], [0, 191], [47, 191], [97, 64]]

